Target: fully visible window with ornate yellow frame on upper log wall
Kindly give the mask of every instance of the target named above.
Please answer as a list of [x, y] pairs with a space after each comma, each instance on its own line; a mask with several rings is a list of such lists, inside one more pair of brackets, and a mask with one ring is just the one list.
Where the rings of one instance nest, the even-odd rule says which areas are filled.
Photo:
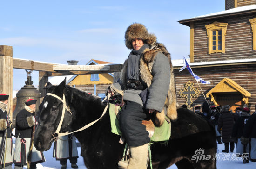
[[227, 31], [227, 23], [214, 22], [205, 25], [208, 37], [208, 54], [225, 53], [225, 35]]

